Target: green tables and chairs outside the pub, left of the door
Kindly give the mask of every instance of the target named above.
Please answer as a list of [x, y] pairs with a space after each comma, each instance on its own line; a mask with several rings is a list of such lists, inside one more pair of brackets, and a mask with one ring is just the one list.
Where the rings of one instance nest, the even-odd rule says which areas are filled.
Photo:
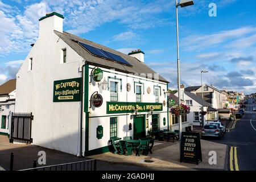
[[109, 140], [109, 150], [114, 154], [119, 155], [133, 155], [136, 156], [152, 154], [154, 146], [154, 139], [141, 138], [133, 139], [132, 137], [111, 138]]

